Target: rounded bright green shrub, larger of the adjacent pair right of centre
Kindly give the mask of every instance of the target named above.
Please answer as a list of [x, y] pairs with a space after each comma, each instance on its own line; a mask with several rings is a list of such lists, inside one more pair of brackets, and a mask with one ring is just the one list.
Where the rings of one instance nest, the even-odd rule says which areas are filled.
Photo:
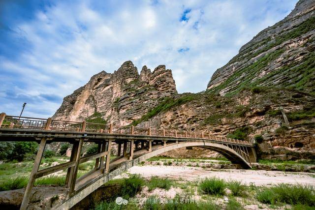
[[199, 184], [200, 190], [205, 194], [224, 195], [226, 183], [219, 178], [206, 178]]

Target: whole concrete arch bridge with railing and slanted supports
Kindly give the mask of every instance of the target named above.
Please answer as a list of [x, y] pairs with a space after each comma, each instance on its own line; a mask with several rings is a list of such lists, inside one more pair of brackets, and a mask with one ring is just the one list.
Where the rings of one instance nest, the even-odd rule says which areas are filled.
[[[253, 144], [248, 141], [200, 132], [17, 117], [5, 113], [0, 114], [0, 141], [39, 143], [21, 210], [28, 209], [35, 179], [61, 170], [67, 170], [64, 184], [67, 197], [54, 209], [63, 210], [70, 209], [102, 184], [139, 162], [169, 150], [184, 147], [214, 150], [245, 169], [251, 168], [251, 163], [256, 162]], [[39, 170], [45, 146], [52, 142], [72, 144], [70, 160]], [[82, 146], [86, 142], [98, 145], [95, 154], [81, 156]], [[118, 148], [118, 155], [110, 160], [114, 146]], [[95, 160], [94, 169], [78, 178], [78, 166], [90, 160]]]

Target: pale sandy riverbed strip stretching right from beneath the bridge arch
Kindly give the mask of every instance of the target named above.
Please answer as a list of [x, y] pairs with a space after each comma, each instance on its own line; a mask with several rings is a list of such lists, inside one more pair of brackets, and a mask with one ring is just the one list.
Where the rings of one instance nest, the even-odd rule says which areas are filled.
[[[250, 185], [276, 185], [279, 183], [289, 184], [310, 184], [315, 186], [315, 174], [303, 172], [281, 172], [264, 170], [236, 170], [220, 169], [211, 170], [199, 167], [180, 167], [180, 166], [134, 166], [127, 173], [140, 174], [144, 178], [158, 176], [170, 179], [182, 179], [194, 181], [207, 177], [218, 177], [224, 180], [239, 180]], [[126, 174], [122, 175], [123, 177]], [[118, 176], [120, 178], [122, 176]]]

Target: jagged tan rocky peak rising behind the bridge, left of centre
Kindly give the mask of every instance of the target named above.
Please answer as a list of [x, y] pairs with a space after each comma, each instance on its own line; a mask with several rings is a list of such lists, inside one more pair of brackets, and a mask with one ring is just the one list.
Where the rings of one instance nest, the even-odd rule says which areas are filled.
[[126, 125], [158, 105], [159, 99], [176, 93], [172, 72], [165, 65], [159, 65], [152, 73], [143, 66], [139, 75], [133, 63], [126, 61], [113, 74], [95, 74], [85, 86], [64, 97], [53, 118], [82, 121], [97, 114], [104, 120]]

